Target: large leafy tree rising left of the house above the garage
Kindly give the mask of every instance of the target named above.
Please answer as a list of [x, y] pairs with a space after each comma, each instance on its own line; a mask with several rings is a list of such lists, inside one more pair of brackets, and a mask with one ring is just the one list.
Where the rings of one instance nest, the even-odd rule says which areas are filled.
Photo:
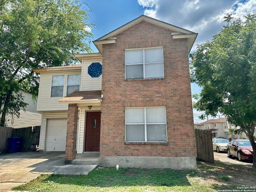
[[74, 63], [74, 53], [91, 51], [87, 8], [75, 0], [0, 1], [0, 126], [26, 107], [19, 90], [37, 95], [33, 69]]

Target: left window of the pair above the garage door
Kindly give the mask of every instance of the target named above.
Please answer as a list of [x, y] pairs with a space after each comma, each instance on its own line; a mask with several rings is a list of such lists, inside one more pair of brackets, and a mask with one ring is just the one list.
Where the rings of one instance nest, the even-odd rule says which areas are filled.
[[64, 75], [52, 76], [51, 97], [63, 97]]

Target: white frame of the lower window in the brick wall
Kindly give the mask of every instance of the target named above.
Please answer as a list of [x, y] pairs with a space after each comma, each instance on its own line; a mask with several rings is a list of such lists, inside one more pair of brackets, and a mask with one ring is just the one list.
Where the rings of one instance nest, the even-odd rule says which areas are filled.
[[[164, 108], [165, 109], [165, 123], [147, 123], [147, 108]], [[144, 109], [144, 123], [126, 123], [126, 109]], [[126, 125], [144, 125], [144, 137], [145, 141], [126, 141]], [[165, 125], [165, 130], [166, 130], [166, 141], [148, 141], [147, 140], [147, 125]], [[168, 142], [168, 137], [167, 137], [167, 116], [166, 116], [166, 107], [165, 106], [159, 106], [159, 107], [125, 107], [125, 137], [124, 140], [125, 142], [159, 142], [159, 143], [166, 143]]]

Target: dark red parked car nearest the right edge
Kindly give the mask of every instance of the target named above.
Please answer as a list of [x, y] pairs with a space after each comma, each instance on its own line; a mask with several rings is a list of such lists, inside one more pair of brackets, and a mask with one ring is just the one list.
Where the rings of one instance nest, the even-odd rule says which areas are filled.
[[237, 157], [239, 161], [253, 159], [253, 150], [248, 139], [236, 139], [228, 143], [228, 157]]

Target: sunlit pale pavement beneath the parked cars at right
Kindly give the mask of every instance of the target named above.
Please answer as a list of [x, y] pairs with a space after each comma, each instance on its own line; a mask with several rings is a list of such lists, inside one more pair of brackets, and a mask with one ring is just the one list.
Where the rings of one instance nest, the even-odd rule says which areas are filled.
[[227, 153], [217, 153], [216, 151], [213, 151], [214, 160], [221, 161], [225, 164], [235, 164], [235, 165], [246, 165], [246, 166], [252, 166], [252, 161], [238, 161], [235, 157], [228, 157]]

